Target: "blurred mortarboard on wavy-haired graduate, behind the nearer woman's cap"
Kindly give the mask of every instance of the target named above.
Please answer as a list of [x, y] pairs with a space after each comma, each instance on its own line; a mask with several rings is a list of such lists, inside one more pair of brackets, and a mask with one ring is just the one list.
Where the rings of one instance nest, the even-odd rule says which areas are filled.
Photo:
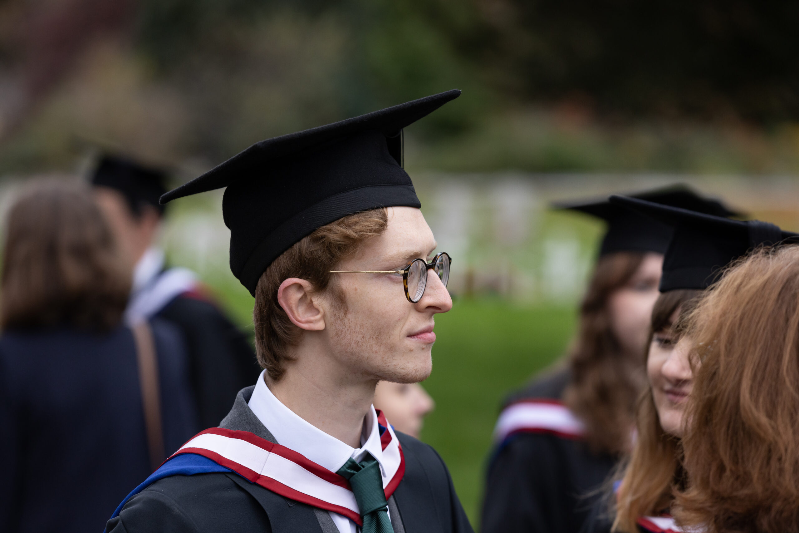
[[[687, 185], [672, 185], [628, 196], [717, 217], [741, 216], [741, 213], [727, 209], [721, 201], [703, 197]], [[580, 203], [555, 204], [554, 207], [579, 211], [607, 222], [605, 237], [599, 248], [600, 257], [615, 252], [665, 253], [671, 239], [672, 229], [669, 225], [645, 217], [625, 205], [610, 203], [606, 197]]]

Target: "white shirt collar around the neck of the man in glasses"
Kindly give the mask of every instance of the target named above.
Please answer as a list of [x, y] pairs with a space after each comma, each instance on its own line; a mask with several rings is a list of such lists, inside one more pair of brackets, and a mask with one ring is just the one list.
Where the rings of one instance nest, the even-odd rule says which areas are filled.
[[380, 428], [373, 406], [364, 420], [361, 446], [354, 448], [316, 428], [282, 404], [266, 386], [265, 372], [265, 370], [261, 372], [248, 405], [258, 420], [275, 437], [277, 444], [288, 447], [334, 472], [343, 467], [347, 459], [352, 457], [360, 461], [369, 452], [380, 463], [380, 473], [384, 477], [385, 486], [383, 446], [380, 443]]

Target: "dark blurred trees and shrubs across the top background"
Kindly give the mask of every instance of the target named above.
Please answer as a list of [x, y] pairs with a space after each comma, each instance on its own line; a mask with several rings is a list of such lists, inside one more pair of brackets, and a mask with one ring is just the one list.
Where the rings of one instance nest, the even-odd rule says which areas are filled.
[[264, 138], [452, 88], [463, 96], [407, 129], [409, 168], [799, 170], [795, 2], [126, 1], [131, 20], [91, 38], [81, 10], [0, 2], [0, 88], [52, 79], [9, 132], [3, 93], [0, 175], [74, 169], [99, 144], [189, 178]]

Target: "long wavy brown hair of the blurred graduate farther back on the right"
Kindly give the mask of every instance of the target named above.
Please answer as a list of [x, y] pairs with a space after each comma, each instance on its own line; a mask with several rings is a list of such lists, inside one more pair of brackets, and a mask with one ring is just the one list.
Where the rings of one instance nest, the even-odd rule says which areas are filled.
[[586, 443], [597, 453], [617, 454], [630, 443], [635, 400], [642, 381], [640, 361], [623, 360], [610, 321], [608, 299], [641, 266], [643, 253], [601, 257], [580, 306], [580, 324], [570, 352], [566, 406], [586, 426]]

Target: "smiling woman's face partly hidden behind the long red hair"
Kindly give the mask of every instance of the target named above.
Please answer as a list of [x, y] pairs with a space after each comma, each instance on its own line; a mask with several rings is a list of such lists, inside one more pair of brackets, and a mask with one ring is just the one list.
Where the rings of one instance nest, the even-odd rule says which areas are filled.
[[[671, 323], [677, 320], [674, 312]], [[671, 330], [656, 332], [652, 336], [646, 374], [652, 386], [652, 397], [663, 431], [682, 437], [686, 402], [694, 385], [694, 372], [690, 365], [691, 341], [683, 336], [676, 343]]]

